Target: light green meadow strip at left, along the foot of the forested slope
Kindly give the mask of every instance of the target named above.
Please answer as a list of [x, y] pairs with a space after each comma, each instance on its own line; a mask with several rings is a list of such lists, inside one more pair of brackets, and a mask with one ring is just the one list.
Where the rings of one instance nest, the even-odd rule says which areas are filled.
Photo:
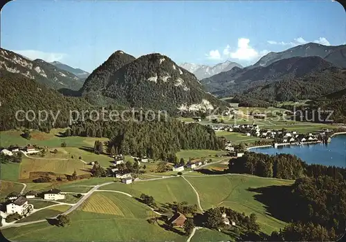
[[27, 140], [21, 137], [21, 130], [9, 130], [0, 132], [0, 146], [8, 147], [9, 145], [27, 145], [28, 143], [39, 146], [48, 146], [49, 148], [60, 147], [62, 142], [66, 142], [67, 147], [93, 147], [96, 140], [107, 141], [107, 138], [96, 137], [59, 137], [59, 132], [65, 129], [53, 129], [49, 134], [33, 130], [31, 139]]

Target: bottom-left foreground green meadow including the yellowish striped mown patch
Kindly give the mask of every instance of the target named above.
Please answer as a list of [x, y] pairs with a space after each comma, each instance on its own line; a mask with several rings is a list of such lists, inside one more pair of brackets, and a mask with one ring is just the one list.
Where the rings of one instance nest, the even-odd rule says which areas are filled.
[[[103, 204], [95, 204], [100, 199]], [[57, 228], [43, 222], [1, 232], [10, 241], [100, 241], [100, 238], [102, 241], [186, 241], [186, 236], [149, 224], [145, 219], [150, 216], [154, 215], [149, 208], [135, 199], [115, 192], [100, 192], [70, 214], [69, 226]]]

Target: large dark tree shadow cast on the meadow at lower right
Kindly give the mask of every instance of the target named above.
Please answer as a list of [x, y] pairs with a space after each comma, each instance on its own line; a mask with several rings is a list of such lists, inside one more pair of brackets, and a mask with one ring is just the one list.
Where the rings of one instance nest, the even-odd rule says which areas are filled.
[[248, 188], [249, 192], [256, 192], [253, 197], [263, 203], [268, 215], [289, 222], [292, 219], [292, 211], [297, 210], [293, 201], [290, 185], [271, 185], [264, 188]]

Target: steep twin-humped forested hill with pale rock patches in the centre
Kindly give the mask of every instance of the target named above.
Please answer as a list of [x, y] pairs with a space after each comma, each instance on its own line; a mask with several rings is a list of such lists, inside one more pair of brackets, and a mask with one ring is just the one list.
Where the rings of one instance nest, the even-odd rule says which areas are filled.
[[[119, 55], [120, 52], [115, 57], [120, 58]], [[109, 60], [104, 63], [106, 74], [99, 74], [96, 81], [93, 72], [82, 88], [82, 94], [89, 95], [88, 100], [91, 100], [91, 90], [99, 95], [93, 98], [95, 103], [106, 99], [118, 105], [167, 110], [170, 113], [214, 109], [224, 103], [206, 93], [194, 74], [179, 68], [162, 54], [144, 55], [116, 71], [118, 66], [113, 68], [107, 62]], [[90, 85], [92, 79], [95, 85]]]

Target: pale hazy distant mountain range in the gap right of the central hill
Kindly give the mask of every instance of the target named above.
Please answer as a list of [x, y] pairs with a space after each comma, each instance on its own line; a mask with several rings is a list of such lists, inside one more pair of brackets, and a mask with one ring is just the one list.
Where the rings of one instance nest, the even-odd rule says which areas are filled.
[[199, 65], [195, 63], [181, 63], [180, 66], [193, 73], [199, 80], [219, 74], [220, 72], [226, 72], [234, 67], [242, 68], [242, 65], [232, 61], [225, 61], [214, 66]]

